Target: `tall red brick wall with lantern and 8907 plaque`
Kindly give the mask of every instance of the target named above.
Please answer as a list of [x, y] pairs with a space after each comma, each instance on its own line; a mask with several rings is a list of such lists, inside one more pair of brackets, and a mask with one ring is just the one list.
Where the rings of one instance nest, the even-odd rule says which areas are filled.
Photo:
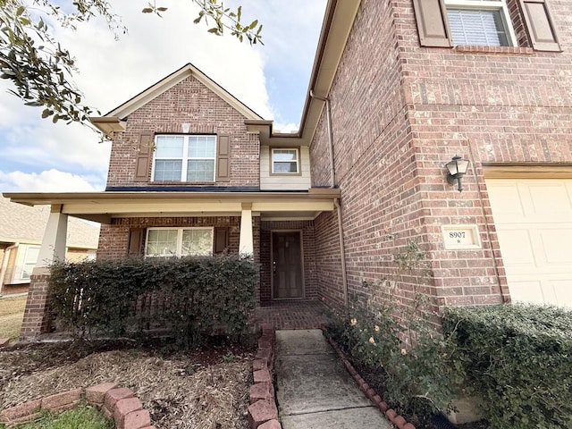
[[[420, 47], [412, 0], [361, 3], [329, 95], [350, 298], [371, 298], [363, 281], [383, 278], [399, 281], [405, 305], [417, 283], [439, 306], [507, 298], [483, 164], [572, 162], [572, 2], [550, 2], [564, 53], [527, 47], [515, 4], [522, 47], [469, 50]], [[328, 181], [326, 149], [323, 117], [310, 148], [315, 185]], [[445, 181], [456, 154], [471, 161], [462, 194]], [[321, 252], [334, 257], [333, 217], [316, 220], [318, 266]], [[450, 223], [476, 223], [483, 248], [445, 250]], [[408, 240], [427, 253], [429, 275], [396, 271]], [[320, 286], [335, 299], [341, 281], [329, 284]]]

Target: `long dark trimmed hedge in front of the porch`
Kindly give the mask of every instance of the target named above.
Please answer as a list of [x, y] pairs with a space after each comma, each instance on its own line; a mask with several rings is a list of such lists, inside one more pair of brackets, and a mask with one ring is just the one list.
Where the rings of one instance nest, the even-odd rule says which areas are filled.
[[120, 336], [168, 328], [180, 345], [205, 335], [247, 331], [257, 267], [238, 255], [156, 257], [58, 263], [50, 308], [76, 332]]

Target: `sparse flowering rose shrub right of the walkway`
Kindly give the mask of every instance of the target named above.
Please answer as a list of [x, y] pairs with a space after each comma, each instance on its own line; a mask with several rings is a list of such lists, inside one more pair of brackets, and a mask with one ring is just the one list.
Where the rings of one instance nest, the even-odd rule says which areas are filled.
[[437, 410], [450, 411], [464, 381], [454, 339], [425, 324], [419, 313], [404, 315], [392, 300], [374, 309], [375, 315], [352, 309], [338, 316], [329, 332], [366, 366], [398, 412], [423, 420]]

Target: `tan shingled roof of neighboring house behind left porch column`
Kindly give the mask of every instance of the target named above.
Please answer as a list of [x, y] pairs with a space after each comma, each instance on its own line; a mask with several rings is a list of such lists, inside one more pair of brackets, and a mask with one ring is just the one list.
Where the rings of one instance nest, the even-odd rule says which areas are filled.
[[[40, 244], [50, 206], [22, 206], [0, 196], [0, 242]], [[70, 217], [68, 248], [97, 248], [99, 225]]]

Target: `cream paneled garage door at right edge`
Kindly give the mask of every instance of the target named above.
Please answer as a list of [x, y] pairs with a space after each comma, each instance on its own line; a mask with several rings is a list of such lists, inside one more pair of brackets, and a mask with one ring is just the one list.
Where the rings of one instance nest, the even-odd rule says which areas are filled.
[[572, 180], [486, 186], [513, 301], [572, 307]]

